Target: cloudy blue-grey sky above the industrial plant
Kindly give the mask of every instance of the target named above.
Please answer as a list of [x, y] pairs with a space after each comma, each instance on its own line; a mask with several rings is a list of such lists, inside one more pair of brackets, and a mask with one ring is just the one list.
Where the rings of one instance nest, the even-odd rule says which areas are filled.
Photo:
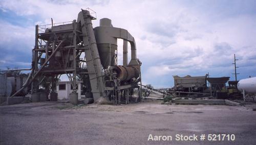
[[[35, 25], [77, 19], [80, 9], [110, 18], [135, 37], [144, 84], [174, 85], [173, 75], [256, 77], [256, 1], [0, 1], [0, 69], [29, 68]], [[122, 41], [118, 41], [121, 62]]]

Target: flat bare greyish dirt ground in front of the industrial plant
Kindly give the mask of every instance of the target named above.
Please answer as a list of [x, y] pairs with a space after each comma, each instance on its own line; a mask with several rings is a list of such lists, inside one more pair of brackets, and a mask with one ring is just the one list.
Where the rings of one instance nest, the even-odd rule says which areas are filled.
[[[255, 144], [253, 106], [73, 106], [45, 102], [0, 106], [0, 144]], [[168, 135], [173, 140], [147, 141]], [[176, 134], [234, 134], [234, 141], [177, 141]]]

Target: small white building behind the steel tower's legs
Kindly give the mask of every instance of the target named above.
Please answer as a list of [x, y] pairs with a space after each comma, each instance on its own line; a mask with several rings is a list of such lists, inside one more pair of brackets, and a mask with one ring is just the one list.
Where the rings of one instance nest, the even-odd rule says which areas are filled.
[[[84, 97], [84, 95], [81, 95], [81, 81], [78, 81], [77, 84], [78, 99], [81, 99], [81, 97]], [[58, 100], [69, 100], [69, 94], [72, 92], [73, 87], [70, 81], [60, 81], [57, 83], [56, 89]]]

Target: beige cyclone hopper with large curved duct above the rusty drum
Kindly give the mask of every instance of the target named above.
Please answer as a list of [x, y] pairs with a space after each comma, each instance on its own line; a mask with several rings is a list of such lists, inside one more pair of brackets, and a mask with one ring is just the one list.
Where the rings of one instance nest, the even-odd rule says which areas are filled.
[[[102, 18], [100, 19], [100, 26], [94, 28], [94, 32], [101, 59], [101, 64], [104, 68], [115, 65], [114, 62], [116, 55], [115, 51], [117, 50], [117, 38], [123, 39], [124, 43], [128, 41], [131, 44], [132, 59], [129, 65], [140, 65], [136, 54], [135, 39], [127, 30], [115, 28], [111, 23], [111, 19]], [[126, 44], [124, 46], [126, 46]], [[126, 53], [123, 59], [125, 59], [125, 62], [127, 61]]]

